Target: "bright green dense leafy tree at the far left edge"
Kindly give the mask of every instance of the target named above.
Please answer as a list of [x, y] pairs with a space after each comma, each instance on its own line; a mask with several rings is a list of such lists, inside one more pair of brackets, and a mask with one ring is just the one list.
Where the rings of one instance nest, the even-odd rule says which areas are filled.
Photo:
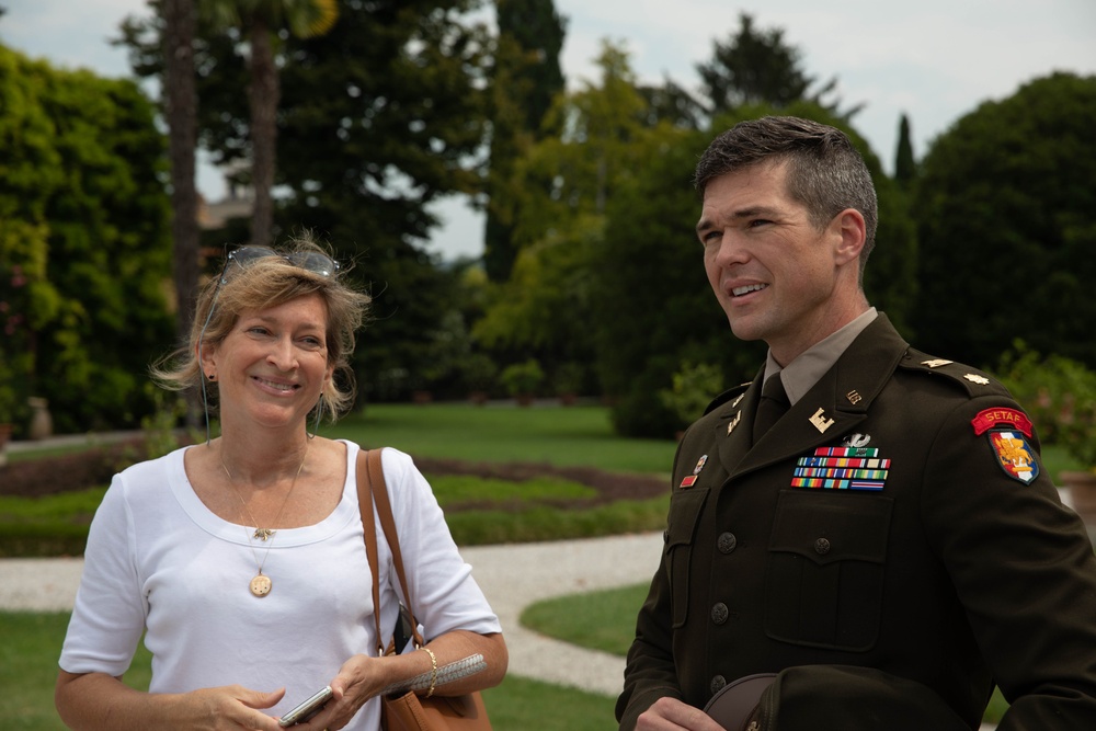
[[47, 398], [59, 432], [133, 426], [173, 341], [152, 106], [132, 81], [0, 47], [0, 262], [18, 274], [0, 290], [18, 316], [2, 351], [20, 400]]

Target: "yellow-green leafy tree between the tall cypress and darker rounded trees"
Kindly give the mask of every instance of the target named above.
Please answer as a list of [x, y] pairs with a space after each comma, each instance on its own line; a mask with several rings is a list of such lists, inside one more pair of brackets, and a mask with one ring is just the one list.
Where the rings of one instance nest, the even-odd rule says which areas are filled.
[[590, 328], [592, 256], [601, 244], [607, 202], [620, 181], [646, 164], [646, 102], [627, 53], [606, 43], [602, 78], [558, 98], [547, 126], [518, 165], [510, 278], [498, 285], [473, 335], [505, 359], [533, 352], [551, 370], [593, 359]]

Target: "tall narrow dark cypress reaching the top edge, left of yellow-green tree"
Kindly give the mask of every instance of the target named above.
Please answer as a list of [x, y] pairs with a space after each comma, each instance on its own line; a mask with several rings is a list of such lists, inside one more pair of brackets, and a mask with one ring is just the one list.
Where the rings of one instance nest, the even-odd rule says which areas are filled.
[[495, 0], [499, 39], [492, 73], [491, 169], [488, 175], [484, 267], [505, 281], [517, 255], [509, 195], [515, 162], [541, 138], [541, 123], [563, 90], [559, 53], [566, 19], [552, 0]]

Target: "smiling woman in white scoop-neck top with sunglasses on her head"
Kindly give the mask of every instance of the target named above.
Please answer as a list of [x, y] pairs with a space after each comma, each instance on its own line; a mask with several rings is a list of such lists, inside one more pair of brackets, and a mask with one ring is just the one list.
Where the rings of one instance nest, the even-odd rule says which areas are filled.
[[[156, 370], [216, 398], [221, 436], [115, 476], [61, 651], [56, 703], [71, 729], [277, 731], [283, 713], [330, 685], [333, 698], [297, 728], [374, 731], [378, 693], [435, 663], [487, 663], [438, 695], [505, 674], [498, 617], [426, 480], [395, 449], [381, 454], [385, 481], [426, 644], [377, 656], [390, 637], [375, 637], [358, 447], [308, 433], [310, 415], [352, 399], [345, 375], [369, 300], [319, 247], [294, 247], [231, 252], [198, 297], [184, 358]], [[400, 590], [377, 533], [390, 632]], [[142, 635], [148, 693], [121, 681]]]

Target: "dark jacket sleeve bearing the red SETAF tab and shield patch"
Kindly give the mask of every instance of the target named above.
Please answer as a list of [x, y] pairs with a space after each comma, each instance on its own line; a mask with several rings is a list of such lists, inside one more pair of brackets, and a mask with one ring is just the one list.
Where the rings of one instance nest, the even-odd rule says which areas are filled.
[[[1042, 468], [1036, 435], [980, 433], [977, 416], [996, 408], [1019, 413], [986, 396], [944, 420], [925, 470], [926, 534], [1011, 704], [998, 731], [1096, 729], [1093, 547]], [[1026, 446], [1038, 472], [1011, 470], [1009, 445]]]

